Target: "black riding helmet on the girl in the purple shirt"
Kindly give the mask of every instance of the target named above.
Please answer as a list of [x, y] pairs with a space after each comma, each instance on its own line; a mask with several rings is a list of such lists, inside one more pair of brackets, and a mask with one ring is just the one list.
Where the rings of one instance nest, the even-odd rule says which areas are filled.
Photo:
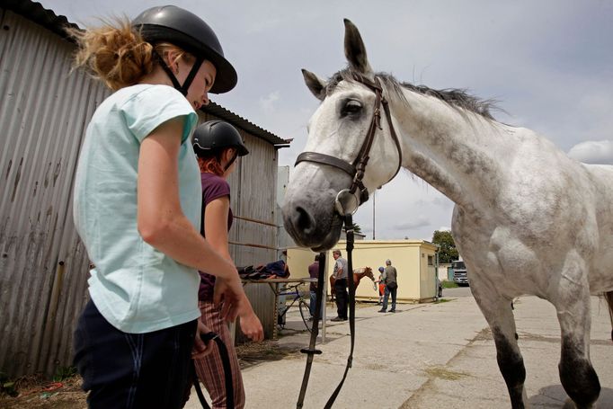
[[202, 123], [194, 131], [191, 144], [198, 156], [207, 151], [221, 151], [226, 147], [234, 147], [237, 156], [249, 153], [238, 130], [223, 120], [209, 120]]

